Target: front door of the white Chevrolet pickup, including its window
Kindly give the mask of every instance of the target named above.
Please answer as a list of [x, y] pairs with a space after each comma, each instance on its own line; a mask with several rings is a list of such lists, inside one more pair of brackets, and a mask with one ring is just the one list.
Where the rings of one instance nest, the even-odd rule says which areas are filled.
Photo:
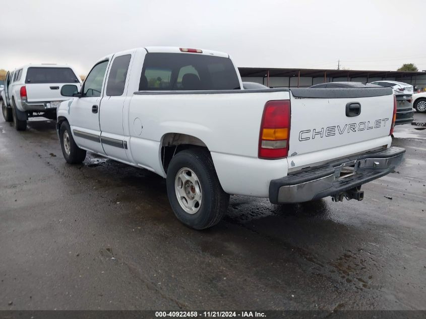
[[100, 142], [99, 106], [105, 83], [108, 60], [98, 62], [83, 83], [80, 97], [70, 105], [70, 125], [77, 145], [105, 154]]

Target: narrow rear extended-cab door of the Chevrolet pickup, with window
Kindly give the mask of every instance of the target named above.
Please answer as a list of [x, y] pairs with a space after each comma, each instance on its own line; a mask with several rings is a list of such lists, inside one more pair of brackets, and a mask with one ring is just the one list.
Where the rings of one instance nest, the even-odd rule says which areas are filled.
[[105, 93], [99, 109], [101, 143], [105, 154], [128, 161], [128, 141], [123, 130], [123, 107], [127, 97], [133, 51], [114, 55], [107, 74]]

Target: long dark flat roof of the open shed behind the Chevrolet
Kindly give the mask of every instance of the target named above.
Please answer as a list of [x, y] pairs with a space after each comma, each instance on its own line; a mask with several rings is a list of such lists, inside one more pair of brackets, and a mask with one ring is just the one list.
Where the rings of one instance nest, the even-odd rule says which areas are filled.
[[426, 72], [330, 70], [330, 69], [280, 69], [280, 68], [238, 68], [241, 77], [331, 77], [331, 78], [404, 78], [426, 75]]

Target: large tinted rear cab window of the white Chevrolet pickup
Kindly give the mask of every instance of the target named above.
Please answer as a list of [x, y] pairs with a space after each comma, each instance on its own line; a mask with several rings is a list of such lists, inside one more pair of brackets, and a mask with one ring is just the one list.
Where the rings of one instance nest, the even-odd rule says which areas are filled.
[[229, 58], [192, 53], [147, 53], [139, 83], [140, 91], [238, 89]]

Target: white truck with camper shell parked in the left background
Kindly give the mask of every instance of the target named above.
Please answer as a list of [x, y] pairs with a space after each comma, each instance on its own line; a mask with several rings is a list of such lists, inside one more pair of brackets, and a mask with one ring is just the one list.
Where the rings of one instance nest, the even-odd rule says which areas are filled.
[[67, 65], [26, 65], [8, 72], [2, 91], [2, 111], [6, 121], [18, 131], [27, 129], [29, 117], [56, 119], [56, 108], [66, 98], [60, 94], [65, 84], [81, 87], [81, 79]]

